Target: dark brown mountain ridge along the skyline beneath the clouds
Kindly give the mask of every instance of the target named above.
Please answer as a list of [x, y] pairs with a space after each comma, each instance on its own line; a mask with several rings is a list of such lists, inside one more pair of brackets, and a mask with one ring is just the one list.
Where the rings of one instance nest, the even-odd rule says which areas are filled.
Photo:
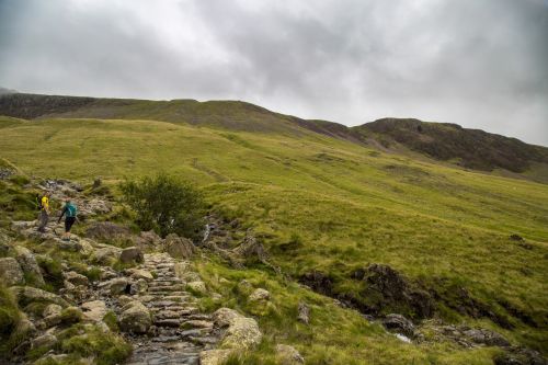
[[[0, 115], [34, 118], [150, 119], [228, 130], [302, 135], [302, 129], [397, 153], [412, 151], [467, 169], [506, 170], [548, 181], [548, 148], [456, 124], [383, 118], [356, 127], [309, 121], [240, 101], [98, 99], [13, 93], [0, 95]], [[546, 178], [545, 178], [546, 176]]]

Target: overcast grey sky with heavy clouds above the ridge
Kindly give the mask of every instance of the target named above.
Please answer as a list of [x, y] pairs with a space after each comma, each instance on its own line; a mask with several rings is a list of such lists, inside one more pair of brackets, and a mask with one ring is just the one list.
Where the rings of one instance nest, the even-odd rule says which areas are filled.
[[0, 87], [548, 146], [548, 0], [0, 0]]

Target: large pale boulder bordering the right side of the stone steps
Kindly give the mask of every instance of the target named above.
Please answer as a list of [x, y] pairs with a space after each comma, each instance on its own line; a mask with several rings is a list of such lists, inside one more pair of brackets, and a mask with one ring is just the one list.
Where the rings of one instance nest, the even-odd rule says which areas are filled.
[[222, 347], [249, 350], [261, 342], [262, 333], [253, 318], [243, 317], [229, 308], [220, 308], [213, 316], [218, 326], [228, 326], [221, 340]]

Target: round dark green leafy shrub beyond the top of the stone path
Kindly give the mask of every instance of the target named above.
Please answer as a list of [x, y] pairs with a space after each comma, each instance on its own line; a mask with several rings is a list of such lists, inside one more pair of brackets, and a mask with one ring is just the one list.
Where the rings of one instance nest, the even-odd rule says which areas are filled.
[[160, 173], [138, 181], [126, 180], [121, 190], [142, 230], [189, 238], [196, 238], [202, 230], [205, 204], [199, 191], [189, 182]]

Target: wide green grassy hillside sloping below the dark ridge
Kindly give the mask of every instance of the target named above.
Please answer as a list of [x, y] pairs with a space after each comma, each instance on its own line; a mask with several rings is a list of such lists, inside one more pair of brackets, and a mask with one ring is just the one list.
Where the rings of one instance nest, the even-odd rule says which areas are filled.
[[[436, 294], [437, 317], [481, 323], [546, 351], [547, 185], [385, 155], [295, 128], [250, 133], [150, 121], [1, 117], [0, 157], [44, 178], [116, 182], [159, 170], [176, 173], [196, 182], [216, 208], [252, 226], [273, 261], [296, 280], [319, 271], [333, 296], [367, 308], [372, 298], [355, 272], [387, 264]], [[510, 239], [514, 233], [525, 241]], [[481, 310], [472, 315], [470, 303]], [[345, 331], [326, 327], [333, 335]], [[356, 331], [346, 330], [346, 337]], [[363, 343], [336, 345], [342, 353], [373, 356]], [[390, 358], [378, 351], [376, 358]], [[408, 360], [429, 363], [435, 351], [445, 355], [434, 363], [473, 357], [488, 364], [492, 355], [418, 346]]]

